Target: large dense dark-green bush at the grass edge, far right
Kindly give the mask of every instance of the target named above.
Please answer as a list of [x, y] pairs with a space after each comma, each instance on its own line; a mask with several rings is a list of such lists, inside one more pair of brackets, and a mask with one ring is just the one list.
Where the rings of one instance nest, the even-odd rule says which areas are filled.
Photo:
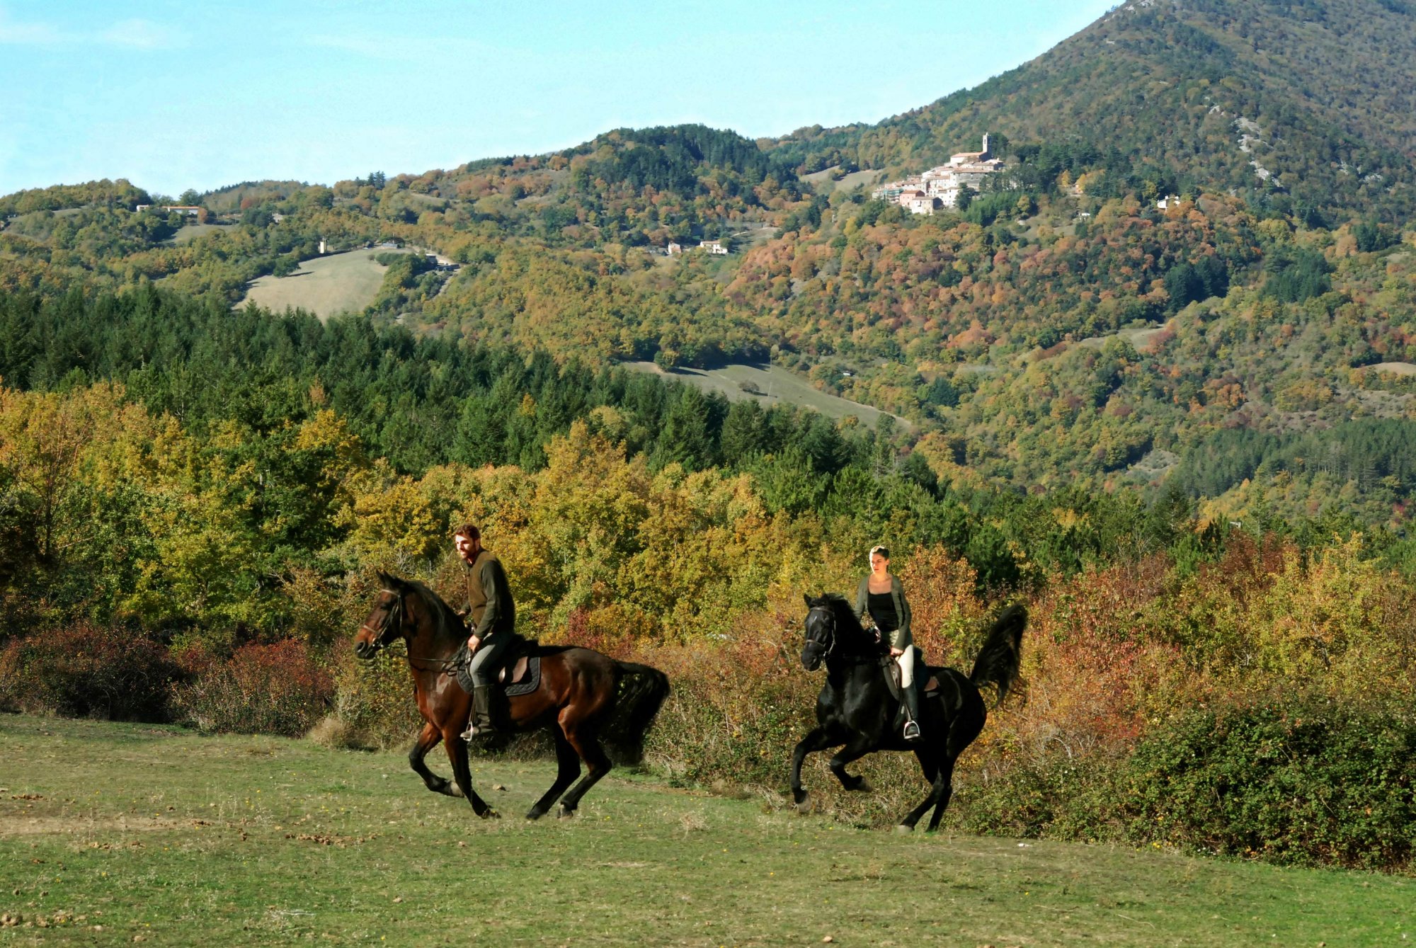
[[1195, 712], [1123, 777], [1136, 842], [1395, 870], [1416, 849], [1416, 722], [1335, 703]]

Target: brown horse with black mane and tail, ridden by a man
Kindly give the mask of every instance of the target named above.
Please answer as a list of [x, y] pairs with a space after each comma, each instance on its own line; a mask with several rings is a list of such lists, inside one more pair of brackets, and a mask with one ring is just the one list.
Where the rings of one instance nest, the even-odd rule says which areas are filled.
[[[457, 685], [452, 666], [467, 641], [467, 628], [462, 617], [422, 583], [382, 572], [378, 582], [382, 586], [378, 603], [354, 637], [354, 654], [374, 658], [395, 638], [408, 645], [418, 712], [426, 722], [408, 753], [408, 763], [428, 790], [466, 797], [479, 816], [496, 816], [497, 812], [472, 788], [467, 744], [462, 739], [472, 698]], [[511, 726], [517, 732], [549, 730], [555, 739], [558, 771], [551, 788], [527, 812], [527, 819], [545, 815], [558, 799], [561, 815], [573, 816], [585, 791], [612, 767], [602, 739], [624, 757], [637, 758], [644, 732], [668, 696], [668, 678], [649, 665], [619, 662], [589, 648], [549, 645], [538, 647], [535, 654], [541, 657], [541, 683], [534, 692], [508, 699]], [[423, 763], [438, 741], [447, 747], [456, 784]], [[581, 761], [588, 767], [585, 777], [581, 777]]]

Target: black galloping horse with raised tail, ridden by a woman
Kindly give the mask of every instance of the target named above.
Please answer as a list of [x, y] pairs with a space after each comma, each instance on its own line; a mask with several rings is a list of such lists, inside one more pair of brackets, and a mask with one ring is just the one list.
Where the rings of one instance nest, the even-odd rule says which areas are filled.
[[926, 686], [919, 706], [923, 734], [920, 740], [906, 741], [896, 722], [899, 700], [891, 695], [881, 668], [882, 648], [861, 627], [851, 604], [841, 596], [807, 596], [806, 606], [801, 664], [816, 671], [824, 659], [826, 685], [816, 699], [816, 729], [792, 751], [792, 797], [797, 808], [807, 808], [807, 792], [801, 788], [801, 761], [807, 754], [845, 744], [831, 758], [831, 773], [847, 790], [864, 791], [869, 790], [865, 778], [848, 774], [847, 764], [877, 750], [912, 750], [930, 790], [899, 822], [899, 829], [913, 831], [930, 807], [935, 814], [929, 818], [929, 829], [937, 828], [953, 795], [954, 761], [978, 736], [988, 716], [978, 689], [994, 685], [1001, 703], [1018, 681], [1027, 610], [1010, 606], [998, 615], [967, 678], [953, 668], [926, 666], [916, 652], [915, 678]]

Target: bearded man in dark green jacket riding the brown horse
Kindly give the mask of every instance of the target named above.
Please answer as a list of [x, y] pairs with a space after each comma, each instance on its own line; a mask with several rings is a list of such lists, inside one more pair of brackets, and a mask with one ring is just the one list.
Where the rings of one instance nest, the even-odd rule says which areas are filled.
[[467, 648], [472, 651], [472, 716], [463, 740], [494, 741], [501, 729], [491, 719], [491, 686], [517, 638], [517, 604], [511, 599], [507, 572], [497, 555], [481, 545], [481, 529], [463, 524], [453, 531], [453, 545], [467, 577], [467, 601], [459, 615], [469, 620]]

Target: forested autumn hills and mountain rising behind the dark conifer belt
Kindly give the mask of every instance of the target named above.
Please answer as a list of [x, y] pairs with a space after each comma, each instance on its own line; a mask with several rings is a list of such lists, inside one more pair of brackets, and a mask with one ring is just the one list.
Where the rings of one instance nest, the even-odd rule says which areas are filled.
[[[940, 480], [1170, 484], [1214, 518], [1400, 531], [1413, 52], [1405, 0], [1136, 0], [872, 126], [617, 129], [422, 174], [246, 183], [197, 195], [222, 226], [181, 239], [184, 219], [129, 209], [126, 181], [11, 195], [0, 293], [152, 282], [225, 311], [321, 243], [401, 241], [460, 266], [389, 267], [375, 324], [556, 362], [770, 359], [908, 416]], [[967, 207], [915, 215], [854, 184], [984, 133], [1007, 171]], [[670, 253], [719, 238], [729, 255]], [[69, 368], [105, 372], [76, 351]]]

